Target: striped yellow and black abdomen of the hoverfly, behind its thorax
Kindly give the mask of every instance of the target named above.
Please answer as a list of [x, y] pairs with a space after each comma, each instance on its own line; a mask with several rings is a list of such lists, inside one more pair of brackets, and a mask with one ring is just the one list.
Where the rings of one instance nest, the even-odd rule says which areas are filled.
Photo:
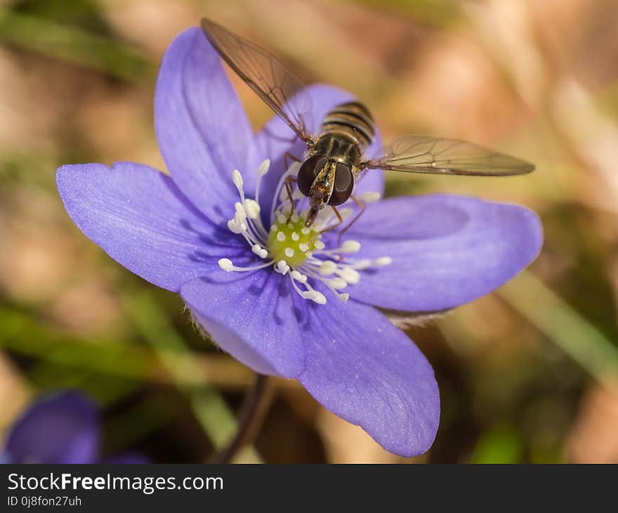
[[322, 133], [329, 132], [339, 132], [353, 138], [362, 151], [374, 140], [374, 118], [362, 103], [341, 103], [322, 120]]

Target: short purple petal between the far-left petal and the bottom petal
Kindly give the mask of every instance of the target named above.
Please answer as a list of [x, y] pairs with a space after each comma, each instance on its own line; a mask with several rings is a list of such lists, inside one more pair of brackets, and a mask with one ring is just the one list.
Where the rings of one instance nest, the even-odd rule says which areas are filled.
[[213, 272], [180, 288], [197, 323], [234, 358], [256, 372], [296, 377], [303, 343], [289, 279], [272, 268]]

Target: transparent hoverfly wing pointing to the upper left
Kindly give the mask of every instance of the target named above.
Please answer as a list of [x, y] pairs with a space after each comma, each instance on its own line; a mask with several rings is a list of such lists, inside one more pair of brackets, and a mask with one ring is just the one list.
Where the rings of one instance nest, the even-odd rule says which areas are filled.
[[303, 83], [260, 46], [206, 18], [202, 30], [223, 60], [303, 141], [311, 140], [311, 98]]

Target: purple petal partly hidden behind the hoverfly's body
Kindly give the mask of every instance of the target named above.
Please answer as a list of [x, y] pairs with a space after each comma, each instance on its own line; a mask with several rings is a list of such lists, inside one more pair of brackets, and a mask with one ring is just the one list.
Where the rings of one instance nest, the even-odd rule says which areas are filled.
[[[313, 134], [317, 133], [320, 129], [322, 118], [327, 115], [331, 108], [334, 108], [340, 103], [354, 99], [354, 96], [347, 91], [326, 84], [308, 86], [305, 89], [305, 93], [310, 96], [313, 105], [311, 116], [313, 124], [308, 127]], [[367, 149], [367, 155], [374, 155], [374, 153], [379, 150], [380, 146], [381, 139], [379, 134], [376, 134], [374, 142]], [[260, 201], [262, 204], [262, 212], [270, 213], [277, 184], [282, 174], [287, 169], [284, 159], [285, 153], [289, 152], [291, 155], [302, 159], [307, 147], [278, 116], [272, 117], [262, 131], [258, 133], [257, 147], [258, 155], [263, 155], [263, 158], [270, 159], [270, 170], [268, 174], [264, 176], [260, 190], [260, 195], [263, 198]], [[291, 160], [288, 159], [287, 164], [289, 165], [290, 163]], [[364, 192], [374, 191], [382, 194], [383, 190], [383, 171], [371, 169], [366, 171], [362, 179], [357, 183], [355, 192], [362, 194]], [[270, 219], [264, 219], [264, 221], [270, 223]]]

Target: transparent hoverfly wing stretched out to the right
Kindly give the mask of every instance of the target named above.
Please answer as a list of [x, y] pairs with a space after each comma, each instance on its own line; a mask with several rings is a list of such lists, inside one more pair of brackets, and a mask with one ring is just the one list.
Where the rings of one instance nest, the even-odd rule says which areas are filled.
[[525, 174], [534, 169], [529, 162], [473, 143], [416, 135], [395, 139], [380, 157], [363, 162], [361, 167], [471, 176]]

